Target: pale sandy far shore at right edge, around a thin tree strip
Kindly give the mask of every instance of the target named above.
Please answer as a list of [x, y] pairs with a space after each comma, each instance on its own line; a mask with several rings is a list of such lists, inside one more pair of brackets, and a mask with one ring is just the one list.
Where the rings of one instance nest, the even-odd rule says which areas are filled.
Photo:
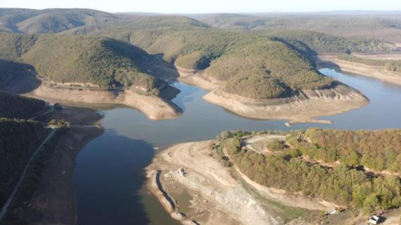
[[[373, 59], [395, 59], [401, 60], [401, 55], [356, 55], [361, 58], [373, 58]], [[369, 76], [392, 84], [401, 85], [401, 75], [390, 72], [384, 68], [384, 66], [368, 66], [356, 62], [348, 62], [340, 60], [337, 56], [319, 56], [320, 61], [329, 61], [340, 67], [345, 72], [354, 74], [360, 74], [363, 76]], [[322, 63], [322, 62], [318, 62]]]

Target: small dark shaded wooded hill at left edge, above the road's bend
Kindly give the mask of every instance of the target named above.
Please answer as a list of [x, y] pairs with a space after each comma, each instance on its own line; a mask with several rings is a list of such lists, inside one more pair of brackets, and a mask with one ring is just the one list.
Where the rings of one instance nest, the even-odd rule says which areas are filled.
[[0, 117], [27, 119], [45, 109], [43, 100], [0, 92]]

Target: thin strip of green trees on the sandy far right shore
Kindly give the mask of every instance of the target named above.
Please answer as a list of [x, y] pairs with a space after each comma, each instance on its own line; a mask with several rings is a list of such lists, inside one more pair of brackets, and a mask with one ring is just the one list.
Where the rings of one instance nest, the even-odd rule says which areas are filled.
[[339, 55], [337, 56], [340, 60], [349, 62], [356, 62], [369, 66], [385, 66], [385, 68], [391, 72], [401, 73], [401, 60], [385, 60], [385, 59], [373, 59], [373, 58], [360, 58], [353, 55]]

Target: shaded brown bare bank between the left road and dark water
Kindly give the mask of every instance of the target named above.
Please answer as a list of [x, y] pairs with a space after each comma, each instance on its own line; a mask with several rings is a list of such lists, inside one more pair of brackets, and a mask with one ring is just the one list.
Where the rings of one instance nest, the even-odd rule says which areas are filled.
[[67, 119], [73, 127], [57, 137], [54, 151], [44, 163], [34, 194], [21, 212], [29, 224], [77, 224], [77, 210], [73, 189], [75, 157], [85, 145], [103, 133], [94, 110], [64, 108], [38, 119], [46, 123], [51, 119]]

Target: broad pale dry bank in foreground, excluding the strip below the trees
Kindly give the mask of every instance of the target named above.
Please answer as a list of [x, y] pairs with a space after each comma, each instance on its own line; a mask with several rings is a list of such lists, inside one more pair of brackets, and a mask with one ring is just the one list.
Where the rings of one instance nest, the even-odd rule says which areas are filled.
[[[186, 215], [185, 219], [180, 221], [184, 222], [183, 224], [186, 224], [185, 221], [193, 221], [202, 225], [279, 224], [279, 221], [267, 214], [227, 171], [221, 170], [219, 162], [207, 161], [209, 157], [203, 153], [208, 143], [209, 141], [203, 141], [173, 145], [156, 155], [152, 164], [147, 167], [148, 174], [161, 171], [162, 187], [173, 199], [175, 197], [174, 202], [180, 196], [180, 192], [175, 192], [176, 189], [193, 193], [189, 200], [192, 210], [181, 211], [180, 203], [176, 206], [176, 211]], [[193, 159], [192, 155], [196, 159]], [[194, 163], [195, 160], [198, 165]], [[205, 163], [207, 167], [203, 167]], [[206, 173], [203, 173], [201, 168]], [[153, 178], [148, 180], [148, 185], [152, 185], [152, 180]], [[150, 190], [159, 201], [165, 201], [158, 194], [159, 189]], [[166, 204], [163, 205], [166, 207]], [[167, 210], [171, 212], [171, 209]], [[203, 217], [199, 218], [199, 215]]]

